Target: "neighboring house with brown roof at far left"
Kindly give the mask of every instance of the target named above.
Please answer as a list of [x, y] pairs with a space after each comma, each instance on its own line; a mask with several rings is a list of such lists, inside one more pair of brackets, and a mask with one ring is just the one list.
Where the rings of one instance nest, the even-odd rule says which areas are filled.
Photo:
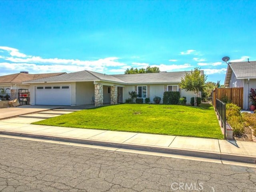
[[51, 76], [57, 76], [65, 73], [46, 73], [46, 74], [28, 74], [28, 72], [20, 72], [16, 74], [0, 76], [0, 89], [5, 93], [16, 93], [19, 89], [28, 89], [30, 84], [22, 84], [23, 81], [41, 79]]

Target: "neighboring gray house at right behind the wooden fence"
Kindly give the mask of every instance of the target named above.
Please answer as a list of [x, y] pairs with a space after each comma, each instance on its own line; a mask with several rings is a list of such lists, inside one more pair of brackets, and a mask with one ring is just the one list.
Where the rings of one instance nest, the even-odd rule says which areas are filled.
[[250, 88], [256, 88], [256, 61], [230, 62], [225, 78], [225, 87], [242, 87], [244, 91], [244, 109], [248, 109]]

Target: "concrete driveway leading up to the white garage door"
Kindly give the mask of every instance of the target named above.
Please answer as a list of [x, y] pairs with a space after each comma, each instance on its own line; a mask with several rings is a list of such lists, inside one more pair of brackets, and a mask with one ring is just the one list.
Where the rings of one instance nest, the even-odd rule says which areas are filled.
[[12, 118], [24, 114], [36, 113], [56, 108], [64, 108], [66, 106], [49, 106], [49, 105], [30, 105], [30, 106], [18, 106], [13, 108], [0, 109], [0, 120], [6, 118]]

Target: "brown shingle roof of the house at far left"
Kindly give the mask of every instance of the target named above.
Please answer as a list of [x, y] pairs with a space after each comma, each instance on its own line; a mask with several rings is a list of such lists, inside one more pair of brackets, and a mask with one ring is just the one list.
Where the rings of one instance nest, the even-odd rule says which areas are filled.
[[26, 74], [16, 73], [10, 75], [0, 76], [0, 83], [22, 83], [24, 81], [36, 80], [41, 78], [47, 78], [51, 76], [58, 76], [66, 73], [44, 73], [44, 74]]

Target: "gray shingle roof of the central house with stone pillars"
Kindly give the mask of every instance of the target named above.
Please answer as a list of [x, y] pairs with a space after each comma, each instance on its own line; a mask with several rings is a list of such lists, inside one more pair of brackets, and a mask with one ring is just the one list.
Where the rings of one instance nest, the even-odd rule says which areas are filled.
[[[181, 82], [181, 78], [186, 72], [161, 72], [161, 73], [146, 73], [146, 74], [120, 74], [106, 75], [92, 71], [79, 71], [74, 73], [63, 74], [60, 76], [37, 79], [27, 81], [26, 83], [34, 82], [70, 82], [70, 81], [110, 81], [127, 84], [138, 83], [172, 83]], [[203, 74], [203, 71], [201, 71]]]

